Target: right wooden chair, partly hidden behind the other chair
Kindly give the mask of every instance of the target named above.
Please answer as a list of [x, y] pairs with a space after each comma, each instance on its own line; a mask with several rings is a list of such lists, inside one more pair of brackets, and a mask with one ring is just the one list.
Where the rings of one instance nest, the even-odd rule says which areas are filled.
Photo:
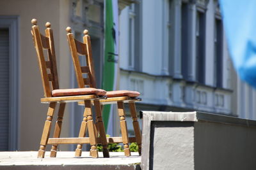
[[[83, 43], [74, 39], [74, 35], [71, 32], [71, 28], [67, 27], [67, 38], [68, 44], [70, 46], [70, 51], [74, 63], [74, 67], [76, 70], [76, 77], [77, 77], [77, 84], [79, 88], [83, 87], [93, 87], [95, 88], [95, 74], [94, 74], [94, 66], [93, 66], [93, 59], [92, 59], [92, 48], [91, 48], [91, 41], [90, 36], [88, 35], [88, 31], [84, 30], [83, 36]], [[86, 57], [87, 66], [81, 67], [79, 62], [79, 55], [84, 55]], [[83, 78], [83, 74], [87, 74], [87, 78]], [[120, 117], [120, 127], [122, 138], [108, 138], [108, 143], [124, 143], [124, 153], [125, 156], [130, 156], [131, 152], [129, 150], [129, 143], [136, 142], [139, 146], [139, 154], [141, 155], [141, 131], [140, 125], [138, 123], [138, 118], [136, 115], [136, 101], [141, 101], [138, 96], [140, 96], [139, 92], [129, 91], [129, 90], [116, 90], [107, 92], [106, 96], [108, 99], [101, 99], [94, 103], [95, 106], [100, 105], [101, 107], [103, 104], [113, 104], [116, 103], [118, 107], [118, 115]], [[132, 116], [132, 124], [134, 127], [135, 138], [128, 138], [127, 132], [127, 124], [125, 120], [125, 110], [124, 110], [124, 102], [129, 103], [129, 108], [131, 111]], [[79, 103], [83, 104], [83, 103]], [[99, 108], [99, 107], [97, 107]], [[100, 111], [101, 112], [101, 111]], [[101, 118], [101, 117], [100, 117]], [[99, 117], [96, 115], [96, 122], [102, 122]], [[102, 125], [102, 124], [98, 124]], [[103, 129], [99, 127], [99, 129]], [[80, 148], [81, 145], [78, 145], [77, 148]], [[77, 153], [76, 156], [80, 156], [81, 153]]]

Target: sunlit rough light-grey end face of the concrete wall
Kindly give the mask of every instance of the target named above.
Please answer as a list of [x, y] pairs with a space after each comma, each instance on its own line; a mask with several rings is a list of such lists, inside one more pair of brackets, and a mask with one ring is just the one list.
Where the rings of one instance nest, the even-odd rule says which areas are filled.
[[193, 123], [154, 122], [152, 126], [149, 169], [193, 169]]

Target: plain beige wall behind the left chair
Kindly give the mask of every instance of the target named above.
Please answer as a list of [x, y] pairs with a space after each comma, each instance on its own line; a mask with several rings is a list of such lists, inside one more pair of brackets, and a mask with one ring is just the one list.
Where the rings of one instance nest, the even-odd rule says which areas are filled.
[[[69, 87], [70, 55], [65, 28], [69, 24], [68, 0], [1, 0], [0, 15], [19, 15], [20, 32], [20, 138], [19, 150], [38, 150], [48, 104], [44, 97], [36, 52], [31, 36], [31, 19], [36, 18], [44, 33], [45, 22], [51, 22], [54, 31], [60, 88]], [[61, 59], [60, 59], [61, 56]], [[68, 136], [69, 115], [66, 108], [62, 136]], [[56, 118], [54, 118], [54, 121]], [[61, 150], [66, 150], [62, 146]]]

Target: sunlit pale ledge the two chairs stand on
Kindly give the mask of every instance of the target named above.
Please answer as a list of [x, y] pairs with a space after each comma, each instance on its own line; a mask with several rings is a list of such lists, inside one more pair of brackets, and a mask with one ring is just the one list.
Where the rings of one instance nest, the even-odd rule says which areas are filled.
[[45, 153], [44, 159], [38, 159], [37, 152], [0, 152], [0, 169], [140, 169], [141, 157], [132, 153], [125, 157], [123, 152], [110, 152], [110, 158], [98, 159], [83, 152], [82, 157], [74, 157], [74, 152], [58, 152], [56, 158]]

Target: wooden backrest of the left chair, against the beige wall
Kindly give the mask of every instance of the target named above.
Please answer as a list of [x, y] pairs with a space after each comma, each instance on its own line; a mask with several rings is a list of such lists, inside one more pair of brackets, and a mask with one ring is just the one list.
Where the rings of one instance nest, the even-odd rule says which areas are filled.
[[[59, 89], [59, 81], [51, 23], [47, 22], [45, 24], [45, 36], [40, 34], [35, 18], [31, 20], [31, 23], [33, 24], [31, 34], [33, 36], [38, 57], [38, 64], [44, 87], [44, 96], [52, 97], [52, 90]], [[45, 59], [44, 50], [47, 50], [47, 59]]]

